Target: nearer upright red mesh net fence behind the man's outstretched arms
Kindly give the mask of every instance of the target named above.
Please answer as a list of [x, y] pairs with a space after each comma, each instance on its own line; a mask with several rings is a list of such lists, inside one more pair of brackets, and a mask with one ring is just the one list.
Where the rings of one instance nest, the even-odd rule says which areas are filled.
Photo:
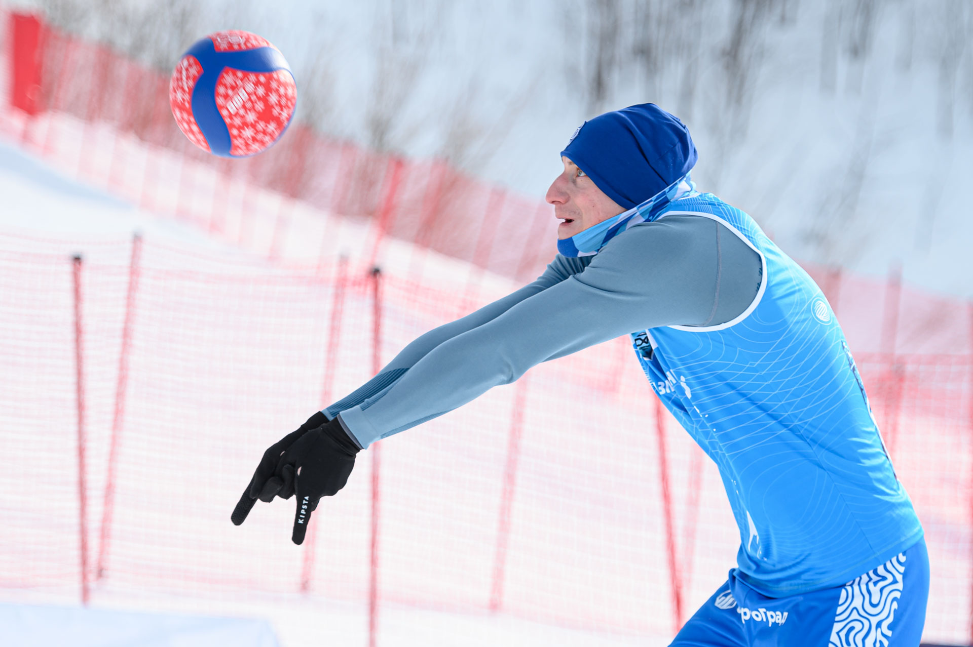
[[[234, 528], [263, 449], [463, 314], [462, 286], [341, 259], [314, 273], [195, 271], [151, 242], [89, 243], [97, 262], [44, 252], [65, 242], [4, 243], [3, 588], [293, 592], [369, 601], [373, 618], [391, 600], [665, 634], [733, 563], [715, 468], [624, 340], [382, 441], [301, 548], [288, 543], [292, 502]], [[973, 362], [858, 359], [927, 530], [927, 633], [965, 640]]]

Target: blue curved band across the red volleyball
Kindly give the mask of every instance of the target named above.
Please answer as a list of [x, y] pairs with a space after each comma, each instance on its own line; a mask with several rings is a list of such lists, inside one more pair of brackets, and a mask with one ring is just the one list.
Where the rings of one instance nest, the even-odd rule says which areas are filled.
[[[193, 117], [206, 138], [210, 153], [221, 157], [240, 157], [248, 155], [234, 155], [230, 153], [233, 142], [230, 139], [230, 129], [227, 127], [220, 110], [216, 107], [216, 83], [220, 80], [223, 70], [230, 67], [240, 72], [276, 72], [285, 70], [291, 72], [284, 55], [273, 48], [255, 48], [241, 51], [216, 51], [213, 41], [203, 38], [193, 44], [184, 56], [194, 56], [202, 66], [202, 74], [196, 80], [193, 88]], [[281, 135], [290, 125], [290, 119], [284, 124]]]

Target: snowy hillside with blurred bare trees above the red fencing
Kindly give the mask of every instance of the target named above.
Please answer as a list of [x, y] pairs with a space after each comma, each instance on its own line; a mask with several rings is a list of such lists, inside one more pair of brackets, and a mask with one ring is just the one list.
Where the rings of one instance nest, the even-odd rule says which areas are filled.
[[[788, 253], [874, 275], [902, 263], [907, 281], [970, 295], [973, 54], [962, 44], [973, 17], [964, 5], [766, 3], [768, 16], [738, 44], [737, 84], [726, 57], [735, 12], [756, 4], [618, 3], [656, 12], [663, 26], [650, 22], [643, 45], [663, 38], [665, 20], [692, 41], [661, 51], [654, 76], [619, 64], [600, 107], [654, 101], [678, 114], [701, 153], [701, 189], [751, 213]], [[587, 99], [594, 7], [209, 0], [195, 28], [270, 38], [297, 71], [299, 110], [328, 132], [372, 145], [373, 124], [386, 119], [382, 146], [419, 156], [458, 147], [475, 175], [540, 199], [567, 136], [597, 112]], [[96, 15], [77, 28], [127, 43]], [[612, 55], [624, 63], [630, 46], [620, 40]], [[739, 106], [729, 98], [737, 85]]]

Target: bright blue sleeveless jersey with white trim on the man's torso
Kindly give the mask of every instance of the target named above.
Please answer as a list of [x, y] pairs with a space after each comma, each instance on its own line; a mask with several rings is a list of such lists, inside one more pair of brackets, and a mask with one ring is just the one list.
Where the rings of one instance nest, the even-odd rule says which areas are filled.
[[632, 333], [667, 409], [719, 466], [740, 533], [738, 576], [765, 596], [845, 584], [922, 536], [845, 335], [811, 277], [711, 193], [651, 220], [719, 221], [762, 258], [731, 322]]

